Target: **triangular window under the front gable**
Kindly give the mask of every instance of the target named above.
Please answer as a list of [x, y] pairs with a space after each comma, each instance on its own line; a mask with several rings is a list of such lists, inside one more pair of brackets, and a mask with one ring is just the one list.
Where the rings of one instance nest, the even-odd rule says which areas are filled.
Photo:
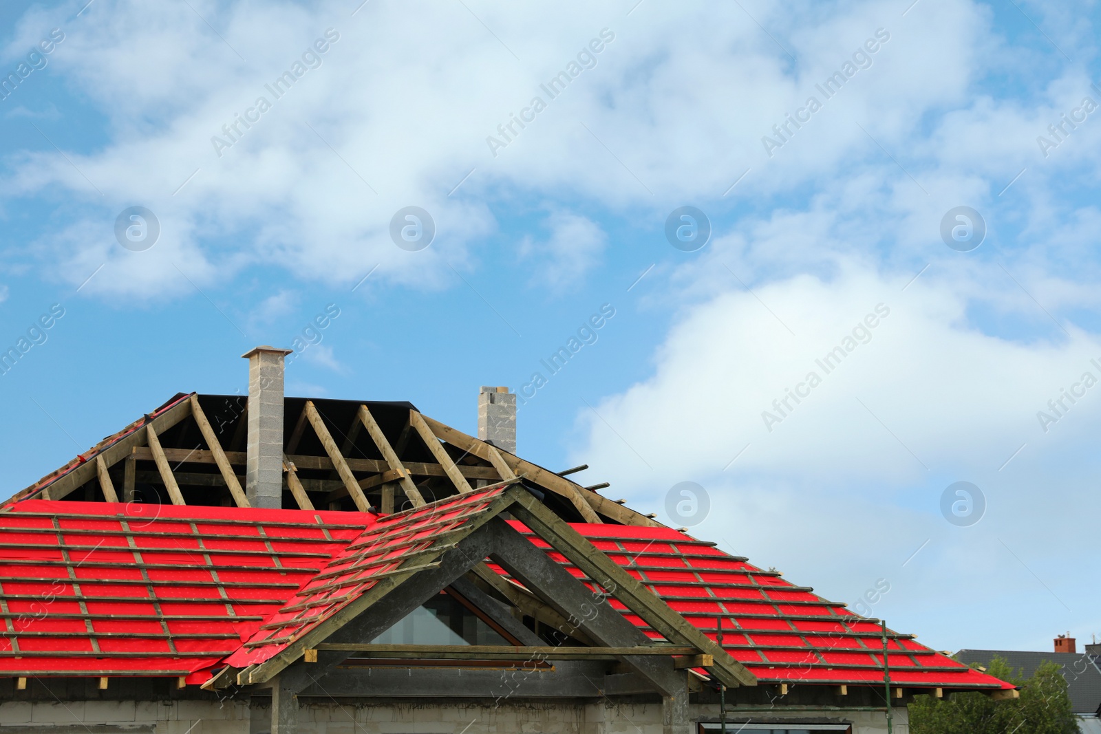
[[450, 594], [440, 593], [371, 640], [374, 645], [511, 645]]

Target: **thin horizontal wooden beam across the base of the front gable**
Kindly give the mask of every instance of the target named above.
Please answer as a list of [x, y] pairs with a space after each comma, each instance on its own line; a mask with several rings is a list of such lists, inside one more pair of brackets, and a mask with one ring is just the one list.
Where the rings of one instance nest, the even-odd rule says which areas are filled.
[[326, 653], [355, 653], [356, 657], [368, 658], [426, 658], [434, 660], [615, 660], [624, 655], [691, 657], [696, 653], [691, 647], [674, 647], [672, 645], [639, 645], [636, 647], [513, 647], [506, 645], [361, 645], [349, 643], [319, 643], [316, 650]]

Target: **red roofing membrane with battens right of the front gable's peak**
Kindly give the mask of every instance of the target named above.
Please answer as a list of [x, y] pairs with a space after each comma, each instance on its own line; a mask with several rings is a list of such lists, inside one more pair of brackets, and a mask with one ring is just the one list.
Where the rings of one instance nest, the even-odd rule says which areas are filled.
[[[517, 522], [532, 543], [596, 590], [592, 581]], [[875, 683], [883, 680], [880, 625], [774, 571], [763, 571], [715, 544], [667, 527], [573, 524], [618, 565], [688, 622], [717, 639], [722, 617], [723, 648], [762, 683]], [[504, 571], [495, 569], [500, 573]], [[615, 599], [608, 599], [646, 635], [662, 636]], [[1012, 689], [1012, 683], [969, 668], [889, 629], [891, 682], [927, 688]]]

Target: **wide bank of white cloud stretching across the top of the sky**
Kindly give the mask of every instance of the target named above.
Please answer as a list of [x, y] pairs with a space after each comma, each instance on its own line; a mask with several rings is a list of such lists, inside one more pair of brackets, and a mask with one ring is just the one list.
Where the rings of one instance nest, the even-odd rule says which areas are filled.
[[[917, 189], [857, 122], [889, 149], [944, 163], [951, 180], [939, 189], [952, 204], [961, 186], [977, 186], [956, 173], [970, 160], [949, 158], [952, 151], [936, 149], [937, 141], [923, 145], [927, 133], [917, 127], [929, 112], [968, 103], [991, 50], [988, 11], [962, 0], [904, 19], [885, 1], [810, 14], [750, 7], [797, 56], [795, 65], [733, 6], [654, 4], [630, 17], [589, 6], [470, 6], [497, 37], [462, 6], [368, 4], [355, 18], [335, 4], [195, 9], [225, 42], [186, 6], [97, 4], [74, 21], [79, 32], [68, 33], [51, 69], [107, 116], [108, 141], [68, 152], [72, 164], [52, 150], [15, 158], [9, 196], [61, 186], [77, 199], [76, 221], [44, 237], [42, 250], [51, 262], [76, 263], [62, 270], [74, 283], [106, 259], [117, 276], [97, 278], [92, 292], [172, 295], [189, 287], [173, 264], [201, 285], [259, 262], [334, 282], [355, 282], [380, 264], [382, 277], [430, 287], [453, 277], [440, 255], [467, 264], [470, 243], [494, 228], [482, 199], [510, 189], [552, 201], [641, 205], [658, 217], [686, 199], [719, 198], [746, 167], [753, 171], [732, 198], [828, 184], [873, 156], [884, 165], [871, 189], [911, 187], [880, 196], [896, 213], [914, 213]], [[394, 32], [411, 24], [415, 43]], [[700, 36], [702, 26], [709, 32]], [[264, 85], [328, 28], [339, 41], [275, 100]], [[494, 157], [487, 136], [534, 95], [546, 96], [539, 84], [606, 28], [614, 40], [596, 66], [547, 96], [547, 109]], [[761, 136], [879, 28], [891, 40], [873, 65], [768, 158]], [[686, 34], [693, 43], [683, 42]], [[272, 97], [272, 109], [239, 127], [239, 142], [219, 157], [211, 136], [225, 136], [222, 125], [260, 96]], [[972, 117], [981, 118], [977, 110]], [[998, 175], [1007, 180], [1013, 166], [1005, 162]], [[111, 226], [138, 202], [162, 220], [163, 241], [131, 256], [113, 242]], [[437, 227], [421, 253], [389, 237], [390, 218], [410, 205], [428, 209]], [[929, 205], [929, 216], [945, 208]]]

